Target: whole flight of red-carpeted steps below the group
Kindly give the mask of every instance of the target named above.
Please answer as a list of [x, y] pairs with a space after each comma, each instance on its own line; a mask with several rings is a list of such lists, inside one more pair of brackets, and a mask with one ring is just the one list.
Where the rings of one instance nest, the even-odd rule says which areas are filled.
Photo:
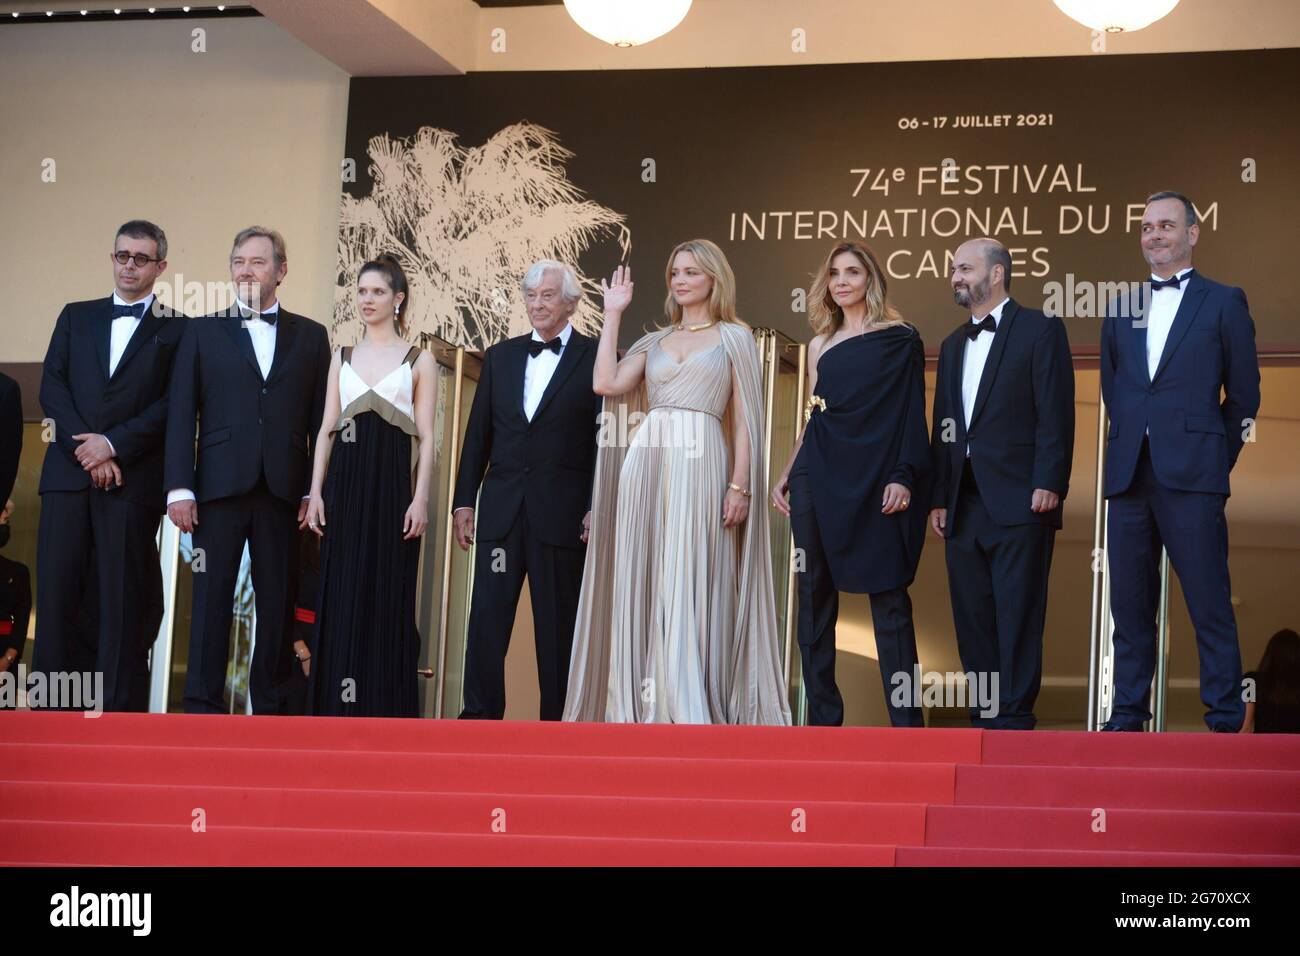
[[30, 711], [0, 730], [8, 865], [1300, 865], [1282, 736]]

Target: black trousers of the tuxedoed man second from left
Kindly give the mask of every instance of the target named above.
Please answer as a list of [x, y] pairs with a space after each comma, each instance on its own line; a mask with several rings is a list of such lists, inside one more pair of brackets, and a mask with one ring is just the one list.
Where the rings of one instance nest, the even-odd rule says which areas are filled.
[[292, 584], [298, 580], [298, 507], [273, 496], [263, 481], [247, 494], [199, 505], [194, 546], [203, 549], [204, 570], [194, 575], [190, 622], [190, 669], [185, 710], [225, 714], [226, 666], [235, 580], [244, 542], [252, 559], [257, 630], [248, 693], [255, 714], [285, 711], [282, 685], [291, 676]]

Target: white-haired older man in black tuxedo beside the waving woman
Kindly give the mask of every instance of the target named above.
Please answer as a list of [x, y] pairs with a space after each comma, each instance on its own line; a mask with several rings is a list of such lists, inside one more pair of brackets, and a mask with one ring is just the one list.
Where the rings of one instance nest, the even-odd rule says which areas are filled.
[[463, 718], [506, 714], [506, 649], [525, 575], [543, 721], [560, 719], [568, 687], [601, 412], [595, 342], [569, 324], [582, 298], [571, 267], [533, 264], [523, 293], [533, 332], [488, 349], [451, 505], [456, 542], [478, 545]]

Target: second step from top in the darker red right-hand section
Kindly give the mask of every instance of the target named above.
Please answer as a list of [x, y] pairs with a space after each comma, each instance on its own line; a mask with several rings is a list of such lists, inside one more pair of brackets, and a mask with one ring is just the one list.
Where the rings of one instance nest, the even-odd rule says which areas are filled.
[[1300, 813], [1300, 773], [1153, 767], [957, 767], [959, 806]]

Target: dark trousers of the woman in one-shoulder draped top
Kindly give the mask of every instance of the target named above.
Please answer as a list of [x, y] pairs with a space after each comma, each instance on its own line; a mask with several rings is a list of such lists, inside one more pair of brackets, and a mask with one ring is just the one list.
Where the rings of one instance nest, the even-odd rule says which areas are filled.
[[[838, 727], [844, 723], [844, 698], [835, 683], [835, 624], [840, 617], [840, 592], [831, 579], [816, 514], [812, 511], [807, 472], [802, 470], [790, 475], [790, 531], [794, 546], [803, 551], [803, 570], [798, 572], [798, 640], [809, 723]], [[911, 620], [911, 598], [906, 588], [893, 588], [870, 594], [868, 600], [889, 723], [894, 727], [923, 727], [926, 721], [922, 709], [910, 702], [911, 695], [897, 704], [897, 685], [892, 680], [894, 674], [906, 674], [906, 685], [911, 687], [915, 674], [916, 632]]]

